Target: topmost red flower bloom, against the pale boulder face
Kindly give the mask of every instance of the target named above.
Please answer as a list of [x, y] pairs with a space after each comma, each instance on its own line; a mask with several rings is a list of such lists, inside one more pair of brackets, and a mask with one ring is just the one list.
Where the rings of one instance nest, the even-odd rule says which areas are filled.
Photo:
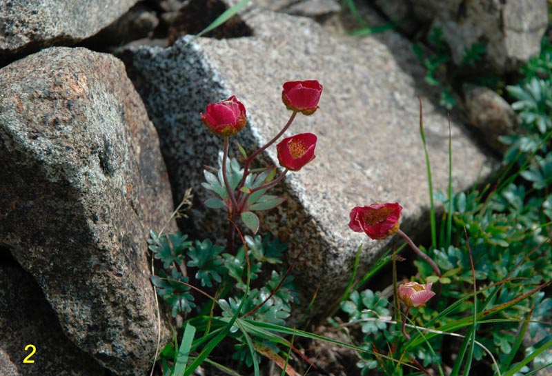
[[316, 80], [289, 81], [284, 83], [282, 101], [284, 101], [288, 110], [311, 115], [318, 108], [321, 94], [322, 85]]

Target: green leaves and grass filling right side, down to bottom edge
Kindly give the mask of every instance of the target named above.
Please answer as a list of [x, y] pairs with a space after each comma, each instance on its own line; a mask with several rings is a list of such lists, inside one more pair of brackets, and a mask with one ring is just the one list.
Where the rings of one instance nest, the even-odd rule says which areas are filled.
[[[442, 77], [454, 76], [447, 72], [449, 58], [442, 33], [433, 30], [428, 43], [435, 55], [428, 57], [421, 48], [417, 53], [425, 59], [426, 81], [440, 85]], [[432, 244], [424, 251], [444, 273], [435, 277], [428, 263], [414, 261], [415, 279], [431, 279], [437, 293], [408, 316], [420, 330], [407, 328], [408, 340], [400, 323], [376, 320], [393, 307], [377, 301], [372, 292], [355, 291], [342, 304], [349, 322], [360, 321], [359, 331], [364, 336], [360, 346], [373, 350], [359, 353], [357, 366], [362, 375], [371, 375], [373, 369], [387, 375], [408, 373], [399, 361], [423, 373], [432, 366], [434, 373], [444, 375], [441, 354], [451, 348], [460, 348], [449, 364], [453, 376], [471, 374], [472, 362], [493, 364], [495, 372], [508, 376], [530, 374], [549, 364], [544, 353], [552, 348], [552, 336], [546, 334], [552, 322], [552, 299], [542, 289], [552, 281], [552, 88], [548, 78], [550, 46], [544, 47], [540, 59], [533, 59], [522, 70], [533, 72], [533, 77], [508, 87], [525, 132], [505, 138], [512, 146], [500, 177], [482, 191], [435, 193], [445, 212], [440, 228], [431, 221]], [[472, 46], [466, 50], [463, 64], [472, 65], [483, 53], [482, 46]], [[545, 333], [544, 339], [524, 348], [524, 336], [536, 333]], [[445, 341], [449, 335], [464, 338]], [[455, 341], [462, 344], [451, 346]]]

